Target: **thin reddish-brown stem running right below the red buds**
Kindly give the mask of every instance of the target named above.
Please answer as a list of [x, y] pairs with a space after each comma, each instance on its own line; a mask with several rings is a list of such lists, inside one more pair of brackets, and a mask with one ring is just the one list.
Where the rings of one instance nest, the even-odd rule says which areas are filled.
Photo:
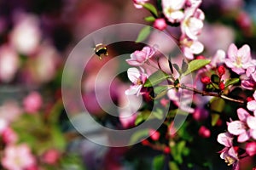
[[232, 98], [230, 98], [228, 96], [225, 96], [223, 94], [216, 94], [216, 93], [212, 93], [212, 92], [201, 91], [201, 90], [198, 90], [196, 88], [189, 88], [189, 87], [185, 86], [184, 84], [180, 84], [178, 86], [178, 88], [186, 89], [186, 90], [194, 92], [195, 94], [201, 94], [202, 96], [214, 96], [214, 97], [218, 97], [218, 98], [221, 98], [221, 99], [230, 100], [230, 101], [233, 101], [233, 102], [236, 102], [236, 103], [245, 104], [245, 101], [241, 100], [241, 99], [232, 99]]

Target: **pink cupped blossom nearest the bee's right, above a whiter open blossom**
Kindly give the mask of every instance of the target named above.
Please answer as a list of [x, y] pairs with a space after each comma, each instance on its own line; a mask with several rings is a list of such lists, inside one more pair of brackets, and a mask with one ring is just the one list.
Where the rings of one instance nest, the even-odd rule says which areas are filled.
[[135, 51], [131, 54], [131, 59], [126, 59], [129, 65], [143, 65], [148, 59], [154, 55], [154, 48], [144, 47], [141, 51]]

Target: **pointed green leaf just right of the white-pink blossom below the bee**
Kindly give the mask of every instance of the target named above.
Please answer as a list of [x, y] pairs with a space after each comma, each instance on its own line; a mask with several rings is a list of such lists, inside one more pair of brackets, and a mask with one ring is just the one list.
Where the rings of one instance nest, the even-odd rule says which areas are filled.
[[165, 81], [169, 75], [164, 73], [163, 71], [155, 71], [150, 77], [148, 77], [147, 81], [144, 83], [145, 88], [153, 87], [160, 82]]

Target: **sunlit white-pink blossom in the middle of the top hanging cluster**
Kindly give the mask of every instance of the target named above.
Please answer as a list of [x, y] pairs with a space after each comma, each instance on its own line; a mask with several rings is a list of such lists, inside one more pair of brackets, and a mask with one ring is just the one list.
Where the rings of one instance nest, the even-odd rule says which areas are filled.
[[192, 40], [197, 40], [203, 27], [204, 13], [199, 8], [186, 8], [185, 16], [181, 22], [181, 30], [184, 35]]

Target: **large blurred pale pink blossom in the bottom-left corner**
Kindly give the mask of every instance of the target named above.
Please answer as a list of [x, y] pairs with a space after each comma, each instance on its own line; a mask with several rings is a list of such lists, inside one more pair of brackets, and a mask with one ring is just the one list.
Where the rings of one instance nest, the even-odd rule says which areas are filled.
[[35, 164], [36, 159], [26, 144], [8, 145], [4, 150], [2, 165], [8, 170], [24, 170]]

